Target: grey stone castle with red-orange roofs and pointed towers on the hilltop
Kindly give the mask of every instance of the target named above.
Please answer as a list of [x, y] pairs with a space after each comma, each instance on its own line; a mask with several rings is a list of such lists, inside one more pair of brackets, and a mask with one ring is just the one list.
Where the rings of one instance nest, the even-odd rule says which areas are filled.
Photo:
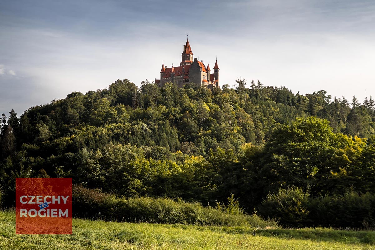
[[189, 44], [189, 39], [186, 40], [184, 51], [181, 54], [180, 66], [167, 68], [162, 66], [160, 70], [160, 79], [155, 79], [155, 83], [162, 87], [166, 82], [172, 82], [182, 88], [184, 84], [193, 82], [198, 86], [206, 86], [212, 89], [219, 87], [219, 66], [217, 60], [213, 67], [213, 74], [211, 74], [210, 65], [204, 66], [203, 60], [193, 60], [193, 52]]

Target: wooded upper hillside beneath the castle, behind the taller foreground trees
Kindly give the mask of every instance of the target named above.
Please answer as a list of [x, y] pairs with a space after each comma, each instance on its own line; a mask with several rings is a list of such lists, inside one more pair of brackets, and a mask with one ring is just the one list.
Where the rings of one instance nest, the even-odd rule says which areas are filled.
[[375, 133], [371, 97], [361, 105], [355, 97], [350, 103], [345, 98], [332, 99], [324, 90], [301, 95], [259, 81], [250, 86], [244, 80], [236, 82], [236, 89], [224, 85], [208, 90], [193, 84], [158, 88], [148, 82], [139, 88], [127, 79], [117, 80], [108, 89], [73, 92], [63, 100], [34, 106], [19, 118], [11, 111], [8, 118], [2, 116], [2, 156], [23, 144], [78, 135], [74, 145], [88, 150], [113, 141], [204, 156], [218, 146], [236, 151], [247, 142], [263, 145], [278, 123], [290, 124], [296, 117], [307, 116], [328, 120], [333, 132], [361, 138]]

